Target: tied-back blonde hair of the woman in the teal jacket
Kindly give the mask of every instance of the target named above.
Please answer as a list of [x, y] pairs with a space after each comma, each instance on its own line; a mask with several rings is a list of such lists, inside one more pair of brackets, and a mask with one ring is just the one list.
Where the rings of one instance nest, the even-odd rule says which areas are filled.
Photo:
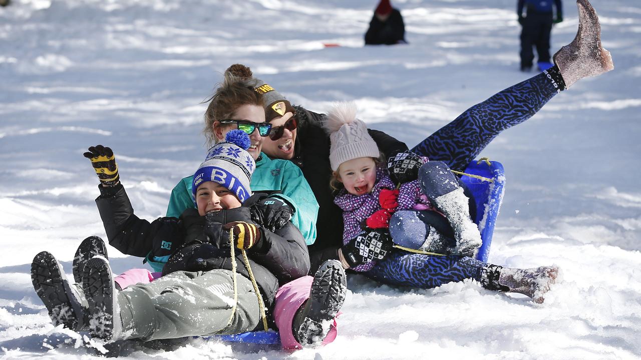
[[215, 122], [231, 118], [243, 105], [257, 105], [261, 108], [265, 106], [263, 95], [254, 91], [254, 87], [247, 83], [247, 79], [232, 74], [229, 69], [224, 74], [222, 84], [212, 97], [204, 102], [209, 102], [204, 113], [203, 129], [208, 146], [217, 142], [213, 129]]

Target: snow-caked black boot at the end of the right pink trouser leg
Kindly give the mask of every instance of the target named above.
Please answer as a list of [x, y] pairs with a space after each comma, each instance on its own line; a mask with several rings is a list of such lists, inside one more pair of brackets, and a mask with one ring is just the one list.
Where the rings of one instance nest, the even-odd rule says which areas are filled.
[[294, 316], [292, 331], [304, 347], [317, 347], [325, 340], [331, 322], [345, 301], [347, 278], [339, 261], [328, 260], [314, 275], [310, 299]]

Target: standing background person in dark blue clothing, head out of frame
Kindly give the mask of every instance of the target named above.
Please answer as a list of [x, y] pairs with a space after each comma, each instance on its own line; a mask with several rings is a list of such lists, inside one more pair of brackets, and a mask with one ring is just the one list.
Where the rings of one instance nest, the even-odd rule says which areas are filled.
[[[553, 7], [556, 17], [553, 16]], [[526, 16], [523, 16], [523, 8], [526, 8]], [[519, 24], [522, 26], [520, 70], [532, 69], [533, 46], [537, 47], [539, 69], [545, 70], [551, 67], [553, 64], [550, 63], [550, 32], [553, 23], [563, 21], [561, 0], [519, 0], [517, 15], [519, 15]]]

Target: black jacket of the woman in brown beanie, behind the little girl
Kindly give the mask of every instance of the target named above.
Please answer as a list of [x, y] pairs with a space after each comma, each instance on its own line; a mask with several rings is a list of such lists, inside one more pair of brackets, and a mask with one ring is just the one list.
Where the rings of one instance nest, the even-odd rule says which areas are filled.
[[[312, 192], [319, 203], [319, 215], [316, 222], [317, 236], [310, 245], [311, 273], [327, 259], [338, 258], [338, 248], [343, 243], [342, 210], [334, 204], [334, 196], [329, 179], [329, 135], [322, 127], [325, 115], [296, 106], [298, 127], [296, 135], [296, 153], [292, 161], [303, 170], [303, 176], [310, 184]], [[408, 150], [407, 145], [399, 142], [382, 131], [369, 129], [378, 149], [387, 158], [397, 152]]]

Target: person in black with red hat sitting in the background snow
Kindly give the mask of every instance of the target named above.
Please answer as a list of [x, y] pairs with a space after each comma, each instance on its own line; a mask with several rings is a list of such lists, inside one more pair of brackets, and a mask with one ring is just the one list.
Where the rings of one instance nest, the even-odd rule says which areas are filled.
[[365, 45], [406, 44], [405, 24], [399, 10], [392, 8], [389, 0], [381, 0], [374, 10], [369, 29], [365, 33]]

